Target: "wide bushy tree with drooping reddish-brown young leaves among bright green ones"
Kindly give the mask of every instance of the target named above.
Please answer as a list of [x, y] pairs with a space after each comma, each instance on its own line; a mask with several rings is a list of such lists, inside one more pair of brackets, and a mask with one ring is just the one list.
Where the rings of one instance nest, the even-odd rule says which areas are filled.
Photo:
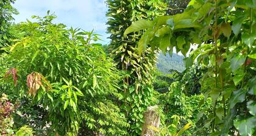
[[49, 12], [33, 18], [20, 24], [23, 37], [0, 57], [1, 93], [20, 100], [17, 113], [37, 116], [27, 124], [39, 134], [46, 126], [56, 135], [127, 134], [129, 124], [114, 103], [121, 73], [101, 44], [90, 42], [98, 35], [54, 24]]

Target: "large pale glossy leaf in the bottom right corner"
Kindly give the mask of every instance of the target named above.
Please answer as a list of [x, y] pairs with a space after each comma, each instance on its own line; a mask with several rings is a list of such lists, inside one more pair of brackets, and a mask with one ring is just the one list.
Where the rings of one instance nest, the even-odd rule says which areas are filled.
[[256, 126], [256, 117], [246, 118], [244, 120], [235, 120], [234, 126], [238, 129], [241, 136], [254, 134]]

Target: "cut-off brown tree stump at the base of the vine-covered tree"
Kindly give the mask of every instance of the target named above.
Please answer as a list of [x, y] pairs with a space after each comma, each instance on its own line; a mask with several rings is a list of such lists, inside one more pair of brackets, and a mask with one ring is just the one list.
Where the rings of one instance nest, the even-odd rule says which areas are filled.
[[160, 126], [160, 113], [158, 112], [158, 106], [149, 106], [146, 112], [144, 112], [144, 124], [142, 126], [141, 136], [153, 136], [154, 131], [148, 127]]

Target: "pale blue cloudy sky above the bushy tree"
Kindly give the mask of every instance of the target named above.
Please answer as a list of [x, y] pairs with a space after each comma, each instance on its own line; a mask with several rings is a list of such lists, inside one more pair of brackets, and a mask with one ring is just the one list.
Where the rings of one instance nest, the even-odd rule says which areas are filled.
[[105, 0], [16, 0], [14, 7], [20, 12], [15, 15], [15, 22], [26, 21], [32, 15], [44, 16], [50, 10], [58, 16], [55, 22], [62, 22], [68, 27], [80, 27], [95, 30], [102, 35], [103, 44], [107, 44], [106, 32], [107, 6]]

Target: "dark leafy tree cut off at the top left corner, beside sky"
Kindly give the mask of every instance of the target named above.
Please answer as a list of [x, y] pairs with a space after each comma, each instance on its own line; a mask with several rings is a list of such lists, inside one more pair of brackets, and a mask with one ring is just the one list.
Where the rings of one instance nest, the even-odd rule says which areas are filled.
[[10, 30], [11, 22], [13, 21], [13, 14], [18, 14], [17, 10], [13, 8], [12, 4], [15, 0], [0, 1], [0, 48], [10, 44], [12, 32]]

